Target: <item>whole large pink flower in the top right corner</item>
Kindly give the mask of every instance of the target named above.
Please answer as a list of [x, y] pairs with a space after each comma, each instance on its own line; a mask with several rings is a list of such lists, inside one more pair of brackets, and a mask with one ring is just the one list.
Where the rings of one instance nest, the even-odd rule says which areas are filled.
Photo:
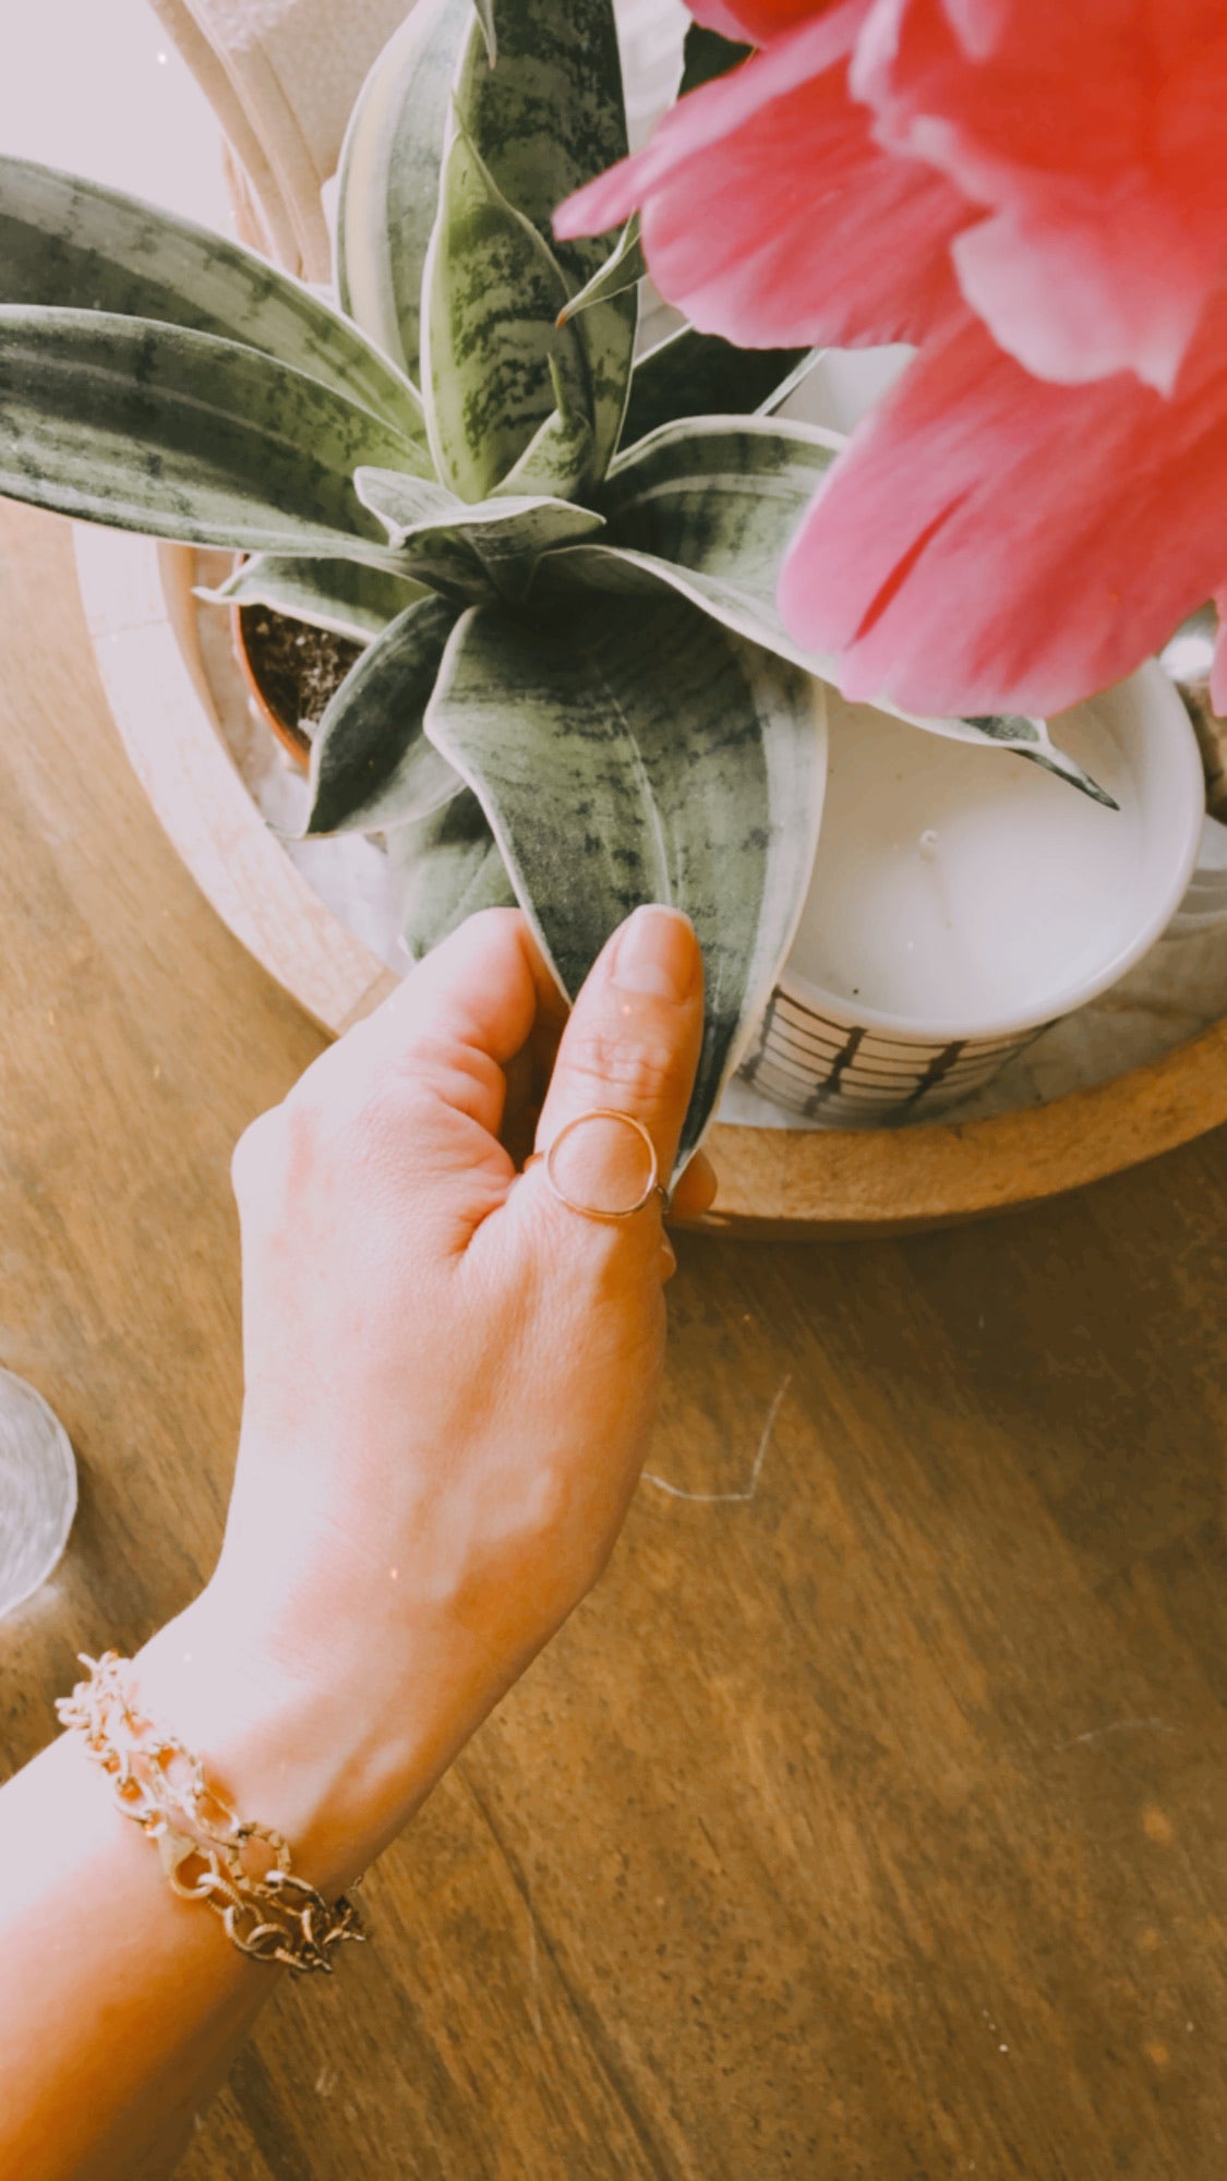
[[915, 711], [1055, 711], [1131, 672], [1227, 591], [1227, 7], [692, 13], [762, 50], [559, 231], [640, 205], [705, 332], [921, 351], [793, 545], [788, 626]]

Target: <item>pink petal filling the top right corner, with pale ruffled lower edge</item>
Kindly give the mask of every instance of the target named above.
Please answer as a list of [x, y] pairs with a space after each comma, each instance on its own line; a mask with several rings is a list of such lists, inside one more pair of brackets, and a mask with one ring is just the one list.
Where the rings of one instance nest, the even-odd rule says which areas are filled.
[[998, 214], [956, 264], [1002, 347], [1170, 393], [1227, 273], [1218, 0], [878, 0], [851, 85], [884, 146]]

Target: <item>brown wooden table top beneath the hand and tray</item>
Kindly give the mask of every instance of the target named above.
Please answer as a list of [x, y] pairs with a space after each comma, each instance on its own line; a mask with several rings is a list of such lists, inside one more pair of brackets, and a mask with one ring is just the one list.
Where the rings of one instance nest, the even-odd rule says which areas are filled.
[[[0, 1363], [81, 1459], [9, 1764], [212, 1564], [234, 1138], [319, 1034], [0, 510]], [[188, 2181], [1220, 2181], [1227, 1134], [1006, 1224], [683, 1239], [614, 1568], [284, 1989]], [[0, 1967], [2, 1974], [2, 1967]]]

